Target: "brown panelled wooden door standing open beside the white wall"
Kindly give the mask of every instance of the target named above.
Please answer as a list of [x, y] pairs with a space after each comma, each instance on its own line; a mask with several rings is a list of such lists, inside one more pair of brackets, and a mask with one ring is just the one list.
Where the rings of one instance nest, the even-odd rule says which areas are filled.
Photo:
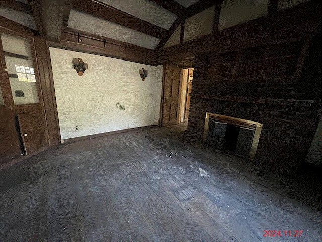
[[180, 76], [181, 68], [174, 65], [165, 65], [162, 126], [178, 124], [180, 103]]

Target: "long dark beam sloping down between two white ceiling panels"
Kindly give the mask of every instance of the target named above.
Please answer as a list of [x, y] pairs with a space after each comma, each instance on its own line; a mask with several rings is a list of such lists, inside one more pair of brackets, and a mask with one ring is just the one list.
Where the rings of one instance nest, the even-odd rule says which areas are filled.
[[68, 7], [83, 13], [117, 23], [127, 28], [162, 39], [167, 30], [118, 10], [112, 6], [94, 0], [71, 0]]

